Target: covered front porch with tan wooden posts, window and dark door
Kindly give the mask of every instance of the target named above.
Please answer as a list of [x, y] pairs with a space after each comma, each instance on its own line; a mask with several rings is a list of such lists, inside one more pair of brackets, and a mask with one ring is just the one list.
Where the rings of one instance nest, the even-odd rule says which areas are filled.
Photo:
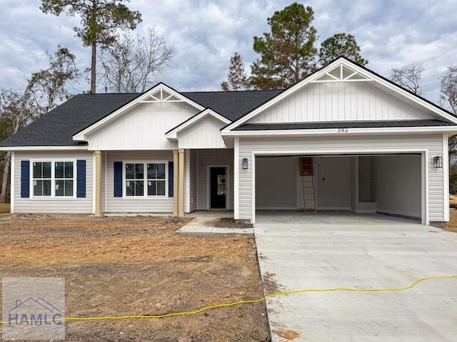
[[233, 210], [233, 149], [94, 151], [94, 214]]

